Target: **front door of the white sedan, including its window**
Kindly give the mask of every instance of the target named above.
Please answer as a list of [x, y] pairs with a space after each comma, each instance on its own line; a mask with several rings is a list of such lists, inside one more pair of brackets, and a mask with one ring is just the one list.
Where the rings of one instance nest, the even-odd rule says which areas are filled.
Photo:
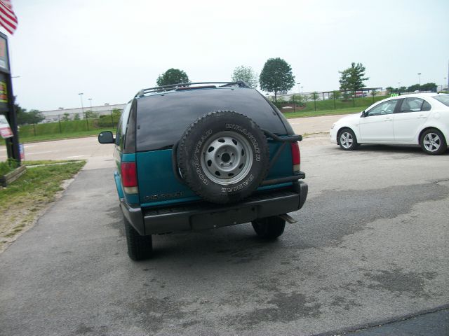
[[393, 142], [394, 110], [398, 99], [391, 99], [366, 111], [360, 119], [361, 142]]

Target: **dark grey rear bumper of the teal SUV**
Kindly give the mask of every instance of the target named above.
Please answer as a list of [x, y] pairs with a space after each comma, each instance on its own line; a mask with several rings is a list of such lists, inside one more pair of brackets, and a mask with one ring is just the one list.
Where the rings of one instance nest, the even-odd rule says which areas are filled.
[[237, 204], [198, 202], [158, 209], [132, 208], [124, 200], [120, 207], [126, 219], [140, 235], [187, 230], [203, 230], [248, 223], [257, 218], [287, 214], [302, 208], [307, 183], [295, 181], [293, 188], [270, 190]]

